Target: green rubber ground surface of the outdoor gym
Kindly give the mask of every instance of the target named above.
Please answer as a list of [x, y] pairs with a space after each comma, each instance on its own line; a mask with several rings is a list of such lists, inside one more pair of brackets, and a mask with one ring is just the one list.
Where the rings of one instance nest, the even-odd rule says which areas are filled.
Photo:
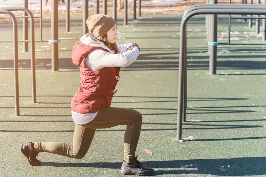
[[[132, 19], [132, 15], [129, 15]], [[49, 17], [43, 19], [43, 39], [51, 36]], [[143, 115], [136, 154], [153, 176], [215, 177], [266, 176], [266, 48], [223, 45], [218, 47], [217, 75], [209, 75], [205, 16], [189, 20], [187, 30], [187, 120], [176, 140], [181, 16], [143, 15], [123, 26], [118, 16], [117, 44], [137, 43], [138, 59], [121, 68], [112, 107], [136, 109]], [[227, 41], [228, 17], [218, 19], [218, 40]], [[82, 15], [71, 16], [71, 31], [82, 31]], [[19, 20], [19, 39], [22, 21]], [[39, 40], [38, 20], [35, 39]], [[254, 28], [232, 20], [232, 42], [261, 42]], [[12, 39], [12, 24], [0, 25], [1, 40]], [[39, 153], [42, 165], [30, 166], [20, 152], [24, 142], [72, 144], [74, 123], [70, 102], [79, 87], [79, 70], [71, 51], [79, 34], [66, 34], [59, 16], [59, 71], [51, 71], [51, 45], [35, 43], [37, 102], [31, 97], [30, 52], [19, 44], [20, 114], [15, 116], [12, 43], [0, 43], [0, 176], [124, 176], [125, 126], [98, 129], [85, 157], [72, 159]], [[29, 45], [30, 48], [30, 45]], [[148, 155], [144, 149], [153, 152]]]

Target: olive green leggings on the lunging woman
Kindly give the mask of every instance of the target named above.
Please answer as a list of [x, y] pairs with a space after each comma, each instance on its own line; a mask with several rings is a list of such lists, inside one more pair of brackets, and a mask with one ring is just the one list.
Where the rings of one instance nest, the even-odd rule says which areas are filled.
[[34, 148], [37, 152], [50, 152], [81, 159], [86, 155], [96, 129], [117, 125], [127, 125], [124, 134], [124, 160], [129, 162], [135, 158], [142, 125], [141, 113], [129, 108], [103, 108], [87, 124], [75, 124], [73, 145], [63, 142], [35, 142]]

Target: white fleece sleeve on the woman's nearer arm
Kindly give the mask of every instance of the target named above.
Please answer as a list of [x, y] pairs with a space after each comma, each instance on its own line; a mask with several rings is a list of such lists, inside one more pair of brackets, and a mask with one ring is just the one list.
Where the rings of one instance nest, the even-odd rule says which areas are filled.
[[124, 68], [132, 64], [140, 55], [137, 47], [124, 53], [113, 54], [100, 49], [92, 51], [86, 58], [85, 64], [92, 71], [99, 71], [104, 67]]

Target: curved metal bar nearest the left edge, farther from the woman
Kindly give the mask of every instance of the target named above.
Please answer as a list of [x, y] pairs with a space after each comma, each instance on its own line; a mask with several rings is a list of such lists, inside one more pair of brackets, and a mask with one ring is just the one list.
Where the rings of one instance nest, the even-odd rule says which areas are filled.
[[14, 46], [14, 88], [15, 88], [15, 115], [20, 115], [19, 80], [18, 80], [18, 49], [17, 49], [17, 19], [8, 10], [0, 9], [0, 14], [7, 14], [13, 22]]

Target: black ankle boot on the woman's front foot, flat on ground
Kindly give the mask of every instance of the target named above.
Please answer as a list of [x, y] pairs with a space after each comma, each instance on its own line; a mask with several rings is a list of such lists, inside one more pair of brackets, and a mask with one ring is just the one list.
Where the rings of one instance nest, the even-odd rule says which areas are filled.
[[124, 175], [148, 176], [153, 174], [154, 170], [141, 165], [138, 157], [136, 156], [134, 160], [129, 162], [125, 162], [123, 160], [120, 172]]

